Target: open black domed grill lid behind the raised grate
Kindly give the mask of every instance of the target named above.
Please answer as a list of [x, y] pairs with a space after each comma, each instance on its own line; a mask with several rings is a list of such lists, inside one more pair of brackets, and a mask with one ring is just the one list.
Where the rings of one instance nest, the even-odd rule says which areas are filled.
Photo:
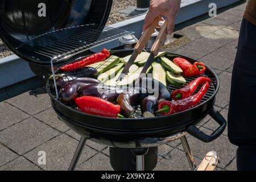
[[[22, 59], [49, 65], [51, 60], [49, 57], [59, 56], [74, 49], [74, 46], [67, 45], [68, 42], [72, 43], [71, 40], [76, 41], [72, 38], [73, 35], [78, 32], [80, 34], [88, 32], [88, 28], [77, 26], [88, 24], [97, 26], [97, 34], [94, 34], [89, 43], [97, 41], [104, 30], [102, 26], [106, 24], [111, 6], [112, 0], [2, 0], [0, 1], [0, 36], [11, 51]], [[73, 29], [67, 34], [69, 27]], [[62, 34], [56, 34], [59, 30], [64, 31]], [[61, 44], [67, 45], [66, 49], [61, 50], [60, 41]], [[77, 42], [76, 48], [89, 43]], [[33, 51], [38, 49], [42, 51], [44, 47], [48, 48], [47, 54]], [[53, 52], [49, 51], [49, 47], [52, 47]], [[56, 47], [60, 49], [55, 49]]]

